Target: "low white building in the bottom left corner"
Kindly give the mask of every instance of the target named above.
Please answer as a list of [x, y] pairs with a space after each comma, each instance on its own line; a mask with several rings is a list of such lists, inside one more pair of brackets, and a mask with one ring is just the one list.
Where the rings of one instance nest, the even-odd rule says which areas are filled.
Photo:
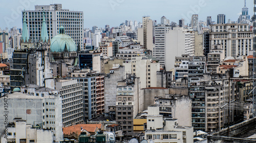
[[51, 130], [42, 129], [39, 125], [26, 124], [26, 121], [22, 119], [15, 119], [13, 123], [8, 124], [7, 129], [7, 136], [5, 133], [1, 136], [2, 143], [22, 141], [34, 143], [53, 142]]

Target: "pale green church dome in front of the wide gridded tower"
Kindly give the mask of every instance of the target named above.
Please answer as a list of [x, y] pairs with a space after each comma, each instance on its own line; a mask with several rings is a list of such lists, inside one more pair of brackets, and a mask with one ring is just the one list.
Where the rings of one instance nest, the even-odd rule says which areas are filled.
[[51, 52], [77, 51], [75, 41], [65, 34], [65, 28], [59, 27], [59, 34], [51, 40]]

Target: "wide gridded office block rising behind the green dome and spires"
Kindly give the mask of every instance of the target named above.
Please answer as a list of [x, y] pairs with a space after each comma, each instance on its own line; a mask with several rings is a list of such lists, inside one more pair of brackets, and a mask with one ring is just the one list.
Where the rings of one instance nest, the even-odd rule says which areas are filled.
[[41, 22], [44, 13], [46, 14], [46, 24], [49, 38], [52, 39], [59, 32], [59, 27], [65, 27], [66, 34], [74, 39], [76, 45], [83, 49], [83, 12], [69, 11], [62, 9], [61, 4], [48, 6], [35, 6], [35, 10], [22, 11], [26, 15], [28, 22], [29, 37], [31, 40], [39, 40]]

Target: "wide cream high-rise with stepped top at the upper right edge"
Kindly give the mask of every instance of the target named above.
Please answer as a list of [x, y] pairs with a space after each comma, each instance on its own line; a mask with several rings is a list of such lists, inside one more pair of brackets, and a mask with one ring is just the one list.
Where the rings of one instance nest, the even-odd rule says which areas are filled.
[[225, 57], [249, 55], [253, 49], [253, 32], [249, 24], [215, 24], [210, 26], [210, 45], [222, 44]]

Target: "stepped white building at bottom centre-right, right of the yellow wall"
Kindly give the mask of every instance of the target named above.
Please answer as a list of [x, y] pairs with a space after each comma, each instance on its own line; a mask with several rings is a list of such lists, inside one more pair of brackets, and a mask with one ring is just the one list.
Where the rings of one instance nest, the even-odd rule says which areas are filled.
[[149, 142], [188, 142], [193, 141], [193, 127], [177, 124], [177, 119], [163, 119], [159, 107], [148, 106], [147, 130], [144, 138]]

